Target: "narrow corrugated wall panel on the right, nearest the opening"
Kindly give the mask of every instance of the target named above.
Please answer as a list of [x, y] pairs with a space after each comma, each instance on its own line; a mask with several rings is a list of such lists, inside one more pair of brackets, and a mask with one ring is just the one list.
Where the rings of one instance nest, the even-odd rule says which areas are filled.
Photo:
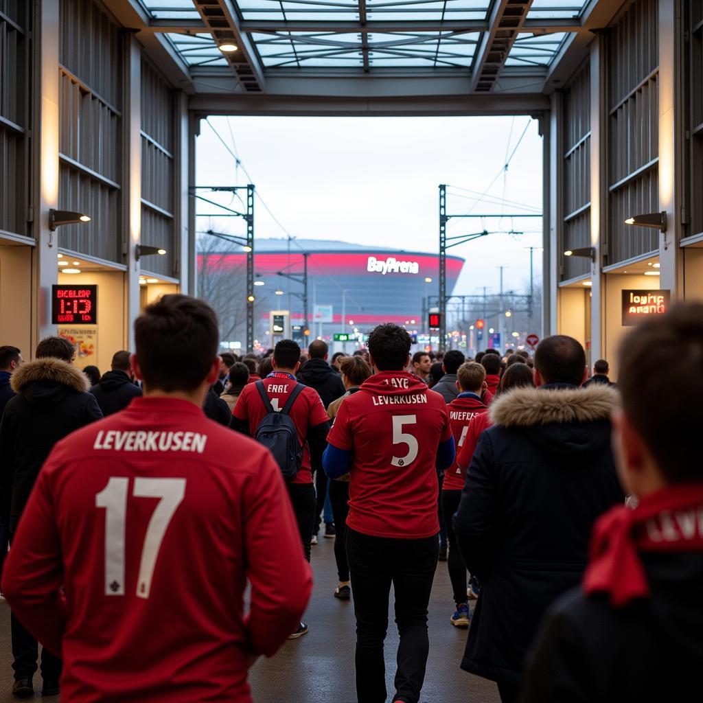
[[[591, 66], [574, 75], [564, 96], [563, 249], [591, 245]], [[576, 213], [576, 214], [575, 214]], [[588, 259], [566, 257], [562, 280], [584, 276]]]

